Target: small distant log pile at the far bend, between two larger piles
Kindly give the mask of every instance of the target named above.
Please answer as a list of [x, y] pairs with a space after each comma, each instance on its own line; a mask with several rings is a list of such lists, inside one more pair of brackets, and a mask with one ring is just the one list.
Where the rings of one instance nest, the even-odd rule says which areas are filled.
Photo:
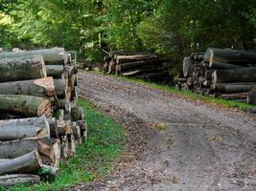
[[105, 56], [104, 61], [104, 69], [107, 74], [115, 73], [151, 81], [169, 78], [162, 66], [166, 59], [155, 54], [116, 51]]

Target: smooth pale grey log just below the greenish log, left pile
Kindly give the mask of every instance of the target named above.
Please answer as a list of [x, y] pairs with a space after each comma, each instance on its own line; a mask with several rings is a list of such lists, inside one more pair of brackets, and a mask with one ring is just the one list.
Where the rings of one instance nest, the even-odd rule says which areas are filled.
[[0, 120], [0, 140], [19, 138], [50, 138], [46, 117]]

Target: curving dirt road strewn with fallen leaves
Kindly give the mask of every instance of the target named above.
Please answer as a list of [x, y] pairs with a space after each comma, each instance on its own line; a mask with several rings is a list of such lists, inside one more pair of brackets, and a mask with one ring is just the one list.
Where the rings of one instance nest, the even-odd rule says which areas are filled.
[[80, 86], [125, 125], [131, 152], [78, 189], [256, 190], [255, 116], [101, 74], [80, 74]]

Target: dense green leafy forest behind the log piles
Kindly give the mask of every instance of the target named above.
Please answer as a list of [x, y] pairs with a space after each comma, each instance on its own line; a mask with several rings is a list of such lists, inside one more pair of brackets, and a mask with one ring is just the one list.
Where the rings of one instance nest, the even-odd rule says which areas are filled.
[[0, 0], [0, 47], [61, 46], [97, 62], [105, 51], [180, 62], [207, 47], [255, 49], [255, 0]]

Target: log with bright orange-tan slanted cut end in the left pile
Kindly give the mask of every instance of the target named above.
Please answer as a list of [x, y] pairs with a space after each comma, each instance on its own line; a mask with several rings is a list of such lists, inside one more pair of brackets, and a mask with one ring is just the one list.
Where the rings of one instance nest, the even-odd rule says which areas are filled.
[[53, 77], [0, 83], [0, 95], [54, 96]]

